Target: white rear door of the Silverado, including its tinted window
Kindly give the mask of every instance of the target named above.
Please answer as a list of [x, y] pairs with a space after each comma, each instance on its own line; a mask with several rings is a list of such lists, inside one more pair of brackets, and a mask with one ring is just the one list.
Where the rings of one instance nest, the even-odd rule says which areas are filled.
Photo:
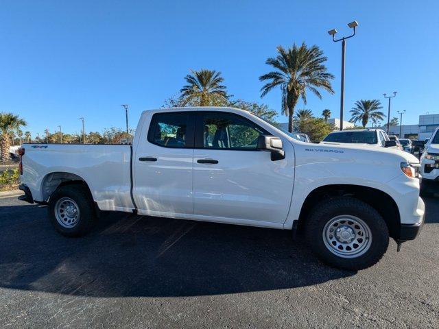
[[193, 215], [193, 112], [158, 112], [134, 152], [133, 195], [139, 213]]

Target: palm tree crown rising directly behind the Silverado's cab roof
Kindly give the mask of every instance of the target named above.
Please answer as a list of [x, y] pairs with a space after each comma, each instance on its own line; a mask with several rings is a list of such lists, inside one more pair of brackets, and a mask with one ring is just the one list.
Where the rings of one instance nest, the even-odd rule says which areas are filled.
[[224, 78], [220, 72], [201, 69], [191, 70], [185, 77], [186, 86], [180, 89], [182, 105], [221, 106], [228, 101]]

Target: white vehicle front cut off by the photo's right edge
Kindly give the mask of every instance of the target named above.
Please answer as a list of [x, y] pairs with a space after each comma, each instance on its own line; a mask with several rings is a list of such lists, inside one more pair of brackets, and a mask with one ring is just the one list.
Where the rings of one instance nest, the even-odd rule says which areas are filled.
[[420, 157], [420, 173], [425, 181], [439, 182], [439, 127], [429, 138]]

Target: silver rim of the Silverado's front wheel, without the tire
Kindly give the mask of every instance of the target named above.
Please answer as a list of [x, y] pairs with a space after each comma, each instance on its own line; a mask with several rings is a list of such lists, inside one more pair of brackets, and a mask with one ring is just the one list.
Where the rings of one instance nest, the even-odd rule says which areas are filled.
[[323, 229], [323, 241], [328, 250], [342, 258], [356, 258], [365, 254], [372, 243], [368, 224], [352, 215], [330, 219]]

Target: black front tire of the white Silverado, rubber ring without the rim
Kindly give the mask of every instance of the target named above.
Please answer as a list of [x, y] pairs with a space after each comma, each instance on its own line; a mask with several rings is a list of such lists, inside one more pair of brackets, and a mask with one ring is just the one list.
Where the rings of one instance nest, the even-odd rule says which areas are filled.
[[[372, 239], [370, 239], [368, 249], [364, 254], [352, 256], [354, 258], [344, 258], [331, 252], [329, 247], [325, 245], [324, 228], [331, 219], [340, 215], [351, 215], [367, 224]], [[377, 210], [353, 197], [335, 197], [317, 204], [307, 219], [305, 238], [313, 252], [324, 263], [339, 269], [353, 271], [366, 269], [378, 263], [389, 245], [389, 231], [383, 217], [379, 215]]]

